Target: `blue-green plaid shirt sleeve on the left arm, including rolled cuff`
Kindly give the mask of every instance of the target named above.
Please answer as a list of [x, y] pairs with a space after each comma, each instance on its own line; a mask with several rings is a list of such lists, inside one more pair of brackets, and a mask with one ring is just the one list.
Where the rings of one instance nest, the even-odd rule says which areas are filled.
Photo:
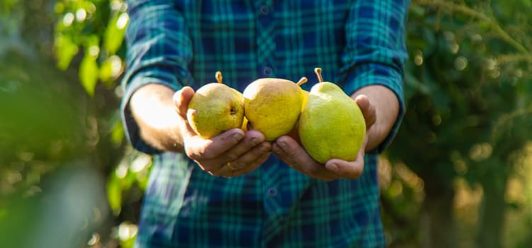
[[141, 152], [157, 153], [141, 140], [129, 111], [129, 98], [146, 84], [163, 84], [177, 91], [191, 84], [187, 64], [192, 44], [183, 15], [171, 0], [128, 0], [127, 71], [122, 79], [122, 120], [127, 140]]

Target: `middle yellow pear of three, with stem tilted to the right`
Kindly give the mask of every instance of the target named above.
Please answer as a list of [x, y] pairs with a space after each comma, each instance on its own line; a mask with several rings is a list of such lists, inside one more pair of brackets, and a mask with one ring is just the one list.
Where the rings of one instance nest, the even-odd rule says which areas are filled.
[[294, 129], [303, 104], [300, 85], [305, 81], [306, 77], [297, 84], [278, 78], [251, 82], [243, 92], [248, 130], [259, 130], [265, 140], [272, 141]]

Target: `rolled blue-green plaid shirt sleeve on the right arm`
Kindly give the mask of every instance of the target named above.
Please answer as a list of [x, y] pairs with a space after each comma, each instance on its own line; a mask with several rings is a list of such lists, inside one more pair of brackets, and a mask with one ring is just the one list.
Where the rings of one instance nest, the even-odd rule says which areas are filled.
[[354, 1], [345, 25], [346, 47], [340, 69], [345, 78], [344, 91], [351, 95], [364, 86], [383, 85], [399, 100], [398, 118], [376, 152], [391, 143], [405, 111], [405, 22], [409, 5], [409, 0]]

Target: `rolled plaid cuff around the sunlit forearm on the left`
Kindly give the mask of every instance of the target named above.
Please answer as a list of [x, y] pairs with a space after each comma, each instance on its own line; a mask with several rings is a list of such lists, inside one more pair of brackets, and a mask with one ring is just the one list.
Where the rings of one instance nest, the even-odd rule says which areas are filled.
[[[127, 78], [125, 80], [127, 80]], [[162, 84], [164, 86], [168, 86], [174, 91], [180, 90], [182, 86], [178, 84], [175, 77], [173, 77], [172, 74], [169, 74], [168, 72], [165, 73], [161, 71], [156, 72], [149, 70], [144, 72], [137, 72], [134, 77], [131, 77], [129, 80], [124, 81], [124, 84], [125, 95], [122, 98], [122, 104], [120, 108], [122, 120], [124, 122], [123, 125], [125, 128], [125, 136], [127, 140], [130, 142], [130, 144], [132, 144], [135, 149], [139, 150], [140, 152], [144, 152], [146, 154], [158, 154], [163, 152], [161, 150], [156, 149], [155, 147], [152, 147], [151, 145], [148, 145], [140, 137], [139, 126], [134, 120], [131, 110], [129, 109], [129, 99], [134, 94], [134, 92], [137, 91], [137, 89], [146, 84]]]

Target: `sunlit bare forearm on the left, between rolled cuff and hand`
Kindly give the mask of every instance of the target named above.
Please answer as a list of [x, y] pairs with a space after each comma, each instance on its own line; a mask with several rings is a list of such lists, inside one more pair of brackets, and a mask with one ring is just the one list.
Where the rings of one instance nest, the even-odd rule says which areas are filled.
[[158, 150], [183, 152], [184, 123], [175, 109], [173, 94], [162, 84], [147, 84], [134, 92], [129, 108], [146, 144]]

